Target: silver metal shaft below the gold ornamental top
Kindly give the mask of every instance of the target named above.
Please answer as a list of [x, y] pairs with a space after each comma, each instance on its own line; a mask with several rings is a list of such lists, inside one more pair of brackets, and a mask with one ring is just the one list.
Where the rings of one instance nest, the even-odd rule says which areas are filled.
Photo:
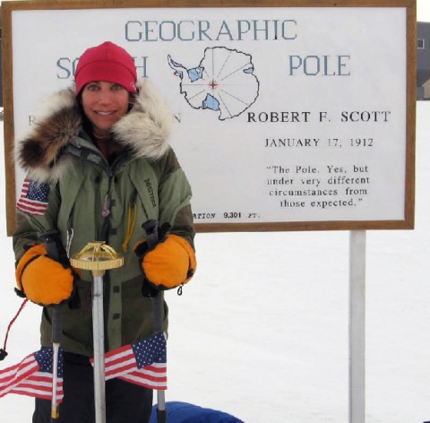
[[103, 275], [92, 281], [92, 332], [94, 348], [94, 405], [96, 423], [106, 422], [105, 329], [103, 321]]

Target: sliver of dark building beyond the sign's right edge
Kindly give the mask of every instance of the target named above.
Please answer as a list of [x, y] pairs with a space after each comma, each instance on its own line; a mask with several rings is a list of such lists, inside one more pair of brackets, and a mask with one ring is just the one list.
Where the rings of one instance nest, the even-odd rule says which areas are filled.
[[430, 22], [417, 22], [417, 99], [430, 99]]

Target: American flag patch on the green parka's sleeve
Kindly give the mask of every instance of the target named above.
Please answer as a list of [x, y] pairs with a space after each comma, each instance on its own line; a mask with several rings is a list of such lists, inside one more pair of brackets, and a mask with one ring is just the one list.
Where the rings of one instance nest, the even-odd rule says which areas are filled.
[[36, 182], [26, 177], [16, 207], [22, 212], [43, 216], [47, 210], [48, 195], [49, 185], [47, 183]]

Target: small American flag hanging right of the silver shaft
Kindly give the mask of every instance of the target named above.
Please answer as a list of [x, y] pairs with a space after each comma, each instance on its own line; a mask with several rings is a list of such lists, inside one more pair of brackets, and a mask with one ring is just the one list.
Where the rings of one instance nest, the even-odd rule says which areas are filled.
[[167, 389], [167, 354], [164, 333], [125, 345], [105, 354], [106, 380], [119, 377], [150, 389]]

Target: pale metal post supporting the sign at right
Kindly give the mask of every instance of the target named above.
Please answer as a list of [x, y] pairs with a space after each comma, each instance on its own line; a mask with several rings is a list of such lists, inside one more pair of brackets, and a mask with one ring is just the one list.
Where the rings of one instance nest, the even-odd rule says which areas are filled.
[[366, 231], [349, 233], [349, 423], [366, 421]]

